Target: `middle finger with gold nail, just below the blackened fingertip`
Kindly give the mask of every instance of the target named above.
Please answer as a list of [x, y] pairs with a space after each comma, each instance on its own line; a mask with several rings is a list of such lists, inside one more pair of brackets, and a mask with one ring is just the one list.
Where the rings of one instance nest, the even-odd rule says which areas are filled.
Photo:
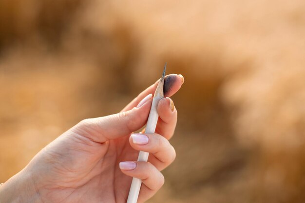
[[159, 119], [155, 132], [170, 139], [177, 124], [177, 110], [171, 98], [163, 98], [157, 108]]

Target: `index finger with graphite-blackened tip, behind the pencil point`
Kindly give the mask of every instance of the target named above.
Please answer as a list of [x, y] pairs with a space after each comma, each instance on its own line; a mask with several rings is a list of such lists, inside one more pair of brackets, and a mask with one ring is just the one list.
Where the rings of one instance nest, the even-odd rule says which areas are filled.
[[[153, 85], [141, 92], [133, 101], [131, 101], [122, 111], [128, 111], [135, 107], [145, 96], [149, 94], [154, 94], [159, 80], [157, 80]], [[164, 97], [171, 97], [176, 93], [181, 85], [184, 83], [184, 78], [182, 75], [170, 74], [165, 76], [164, 79]]]

